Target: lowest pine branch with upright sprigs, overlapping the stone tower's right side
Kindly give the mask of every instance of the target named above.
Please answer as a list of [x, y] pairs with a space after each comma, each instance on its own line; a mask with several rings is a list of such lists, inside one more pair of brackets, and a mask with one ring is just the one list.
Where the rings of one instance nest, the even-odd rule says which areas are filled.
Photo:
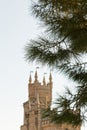
[[51, 110], [48, 107], [48, 109], [43, 110], [42, 118], [47, 118], [50, 122], [55, 124], [67, 123], [72, 124], [73, 127], [81, 125], [86, 118], [85, 113], [82, 114], [81, 109], [79, 108], [87, 105], [84, 104], [87, 100], [87, 91], [85, 91], [84, 95], [82, 91], [78, 94], [72, 94], [72, 92], [67, 89], [66, 95], [58, 95], [56, 101], [54, 102], [56, 105], [55, 109]]

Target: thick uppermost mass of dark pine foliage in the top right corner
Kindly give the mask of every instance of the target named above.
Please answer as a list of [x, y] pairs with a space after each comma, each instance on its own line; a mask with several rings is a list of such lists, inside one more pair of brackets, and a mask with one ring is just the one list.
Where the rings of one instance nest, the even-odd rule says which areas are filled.
[[[87, 51], [87, 1], [52, 0], [34, 4], [33, 14], [58, 39], [68, 40], [74, 50]], [[84, 34], [84, 35], [83, 35]]]

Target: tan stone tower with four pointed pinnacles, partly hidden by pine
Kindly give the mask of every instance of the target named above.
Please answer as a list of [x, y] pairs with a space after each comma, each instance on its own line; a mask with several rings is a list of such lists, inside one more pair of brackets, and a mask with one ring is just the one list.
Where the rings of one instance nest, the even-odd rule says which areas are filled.
[[72, 128], [70, 125], [55, 125], [49, 120], [41, 119], [42, 108], [47, 108], [52, 100], [52, 75], [49, 75], [49, 82], [46, 83], [45, 76], [43, 83], [38, 81], [37, 71], [35, 72], [34, 82], [29, 77], [28, 101], [23, 104], [24, 122], [20, 130], [80, 130], [80, 127]]

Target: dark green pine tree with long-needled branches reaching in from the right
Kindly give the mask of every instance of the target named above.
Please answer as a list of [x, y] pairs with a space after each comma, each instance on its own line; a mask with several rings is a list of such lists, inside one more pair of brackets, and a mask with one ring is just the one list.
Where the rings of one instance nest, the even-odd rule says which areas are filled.
[[[44, 36], [26, 45], [25, 57], [52, 66], [77, 83], [57, 97], [55, 110], [46, 110], [55, 123], [79, 125], [87, 113], [87, 0], [38, 0], [32, 13], [46, 27]], [[51, 114], [50, 114], [51, 112]]]

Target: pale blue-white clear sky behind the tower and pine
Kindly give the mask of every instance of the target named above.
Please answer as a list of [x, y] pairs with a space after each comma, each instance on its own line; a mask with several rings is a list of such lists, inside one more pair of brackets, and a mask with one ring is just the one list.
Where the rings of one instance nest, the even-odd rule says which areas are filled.
[[[41, 32], [39, 21], [31, 15], [30, 4], [30, 0], [0, 0], [0, 130], [20, 130], [29, 74], [33, 71], [34, 77], [37, 67], [24, 58], [24, 46]], [[50, 69], [40, 66], [40, 81], [44, 73], [48, 79], [49, 72]], [[53, 93], [60, 92], [67, 79], [55, 71], [53, 83]]]

